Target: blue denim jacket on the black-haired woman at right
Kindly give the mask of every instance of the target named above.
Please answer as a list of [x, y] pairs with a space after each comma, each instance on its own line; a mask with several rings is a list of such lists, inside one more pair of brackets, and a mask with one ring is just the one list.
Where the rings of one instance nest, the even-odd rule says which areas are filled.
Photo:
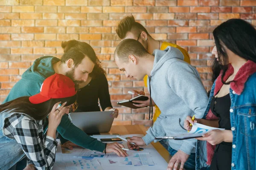
[[[210, 108], [214, 95], [215, 82], [212, 85], [207, 109]], [[230, 88], [230, 123], [233, 133], [231, 170], [256, 170], [256, 73], [250, 75], [244, 83], [240, 95]], [[196, 170], [208, 170], [205, 141], [198, 141], [196, 146]]]

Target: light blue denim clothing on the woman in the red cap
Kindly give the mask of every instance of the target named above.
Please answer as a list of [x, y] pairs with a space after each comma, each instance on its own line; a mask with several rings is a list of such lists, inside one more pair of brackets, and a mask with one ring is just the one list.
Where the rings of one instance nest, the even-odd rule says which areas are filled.
[[4, 120], [12, 114], [9, 112], [0, 114], [0, 170], [8, 170], [25, 156], [16, 140], [3, 134]]

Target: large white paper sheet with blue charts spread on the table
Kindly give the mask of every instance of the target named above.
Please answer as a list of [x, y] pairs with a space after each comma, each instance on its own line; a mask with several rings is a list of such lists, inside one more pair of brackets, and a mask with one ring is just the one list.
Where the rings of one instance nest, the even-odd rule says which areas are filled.
[[[125, 135], [124, 138], [142, 135]], [[96, 137], [98, 140], [105, 137]], [[119, 142], [128, 148], [125, 141]], [[61, 148], [58, 145], [53, 170], [163, 170], [167, 162], [149, 144], [138, 150], [128, 150], [127, 157], [119, 157], [115, 153], [105, 155], [96, 150], [74, 147], [73, 150]]]

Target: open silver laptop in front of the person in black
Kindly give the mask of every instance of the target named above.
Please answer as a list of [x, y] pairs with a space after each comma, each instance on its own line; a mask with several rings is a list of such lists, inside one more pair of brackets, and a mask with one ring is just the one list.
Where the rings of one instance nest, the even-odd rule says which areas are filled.
[[70, 117], [71, 122], [85, 133], [103, 133], [111, 129], [114, 120], [111, 113], [113, 111], [75, 112], [70, 113]]

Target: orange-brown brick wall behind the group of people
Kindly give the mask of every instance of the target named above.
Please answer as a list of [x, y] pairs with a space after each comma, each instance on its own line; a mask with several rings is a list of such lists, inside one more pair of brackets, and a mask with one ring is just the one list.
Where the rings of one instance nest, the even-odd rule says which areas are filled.
[[[131, 97], [128, 90], [143, 90], [143, 82], [127, 79], [113, 61], [120, 42], [115, 28], [129, 14], [155, 39], [189, 51], [209, 90], [213, 29], [230, 18], [256, 25], [256, 0], [0, 0], [0, 102], [36, 58], [61, 57], [61, 41], [71, 39], [93, 46], [108, 73], [113, 106]], [[151, 124], [148, 108], [119, 111], [115, 125]]]

